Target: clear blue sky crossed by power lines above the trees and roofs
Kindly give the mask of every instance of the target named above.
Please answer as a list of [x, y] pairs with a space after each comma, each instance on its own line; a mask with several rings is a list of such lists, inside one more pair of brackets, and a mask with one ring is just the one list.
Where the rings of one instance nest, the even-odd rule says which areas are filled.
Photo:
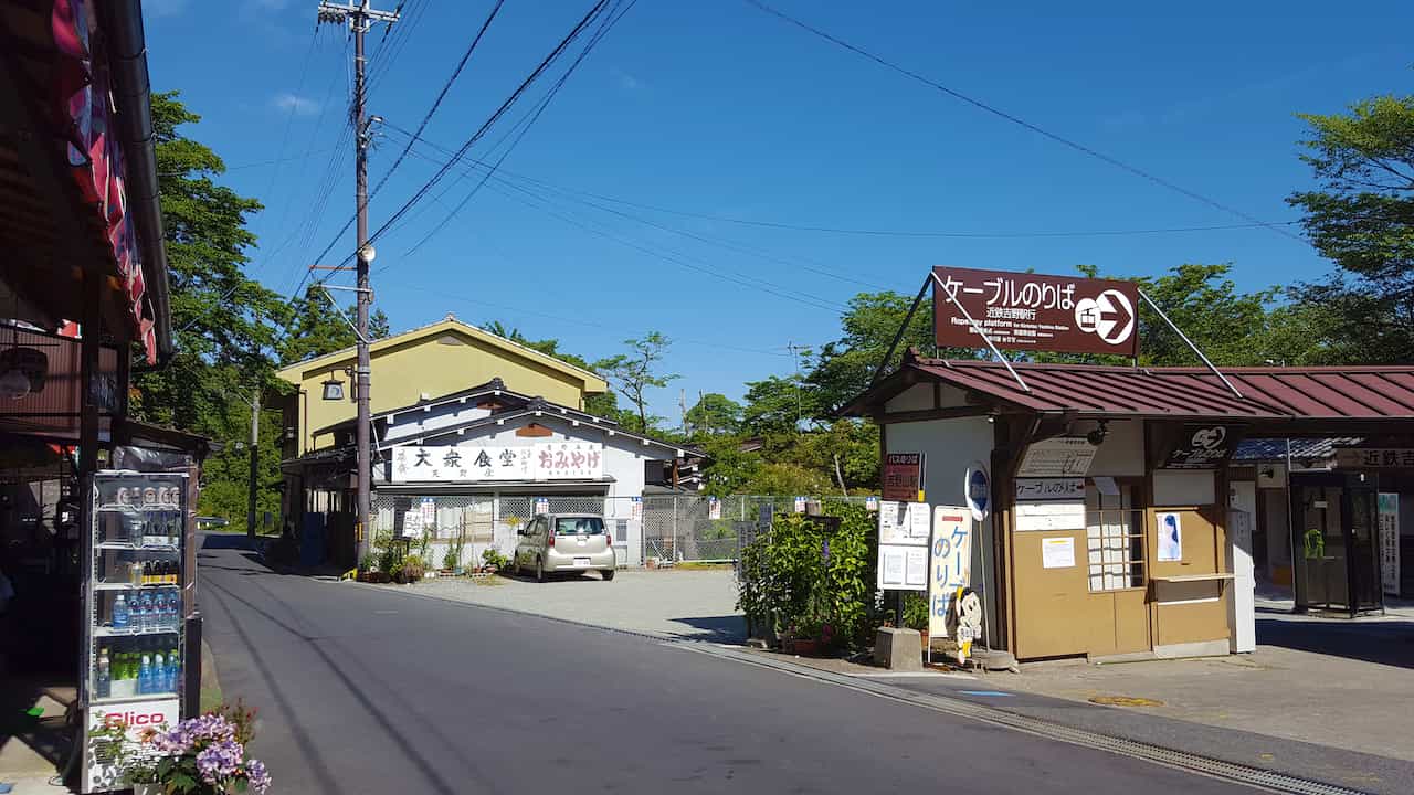
[[[382, 48], [375, 28], [369, 112], [414, 129], [491, 4], [410, 3], [419, 13]], [[1408, 93], [1414, 76], [1414, 7], [1394, 3], [1343, 6], [1338, 25], [1329, 3], [1308, 1], [1089, 3], [1079, 11], [1039, 1], [772, 4], [1264, 222], [1294, 219], [1282, 199], [1311, 182], [1297, 158], [1302, 123], [1294, 113]], [[351, 146], [332, 149], [345, 119], [351, 44], [331, 25], [315, 33], [315, 6], [144, 3], [153, 85], [182, 92], [204, 116], [188, 134], [232, 167], [228, 184], [264, 202], [252, 222], [260, 236], [253, 273], [281, 291], [354, 212]], [[423, 137], [461, 146], [590, 6], [506, 0]], [[496, 140], [523, 108], [471, 153], [498, 156]], [[387, 129], [372, 154], [373, 182], [406, 140]], [[331, 163], [335, 154], [339, 163]], [[431, 177], [438, 157], [445, 154], [431, 146], [413, 149], [373, 199], [373, 228]], [[1076, 232], [1243, 222], [741, 0], [641, 0], [503, 168], [510, 184], [488, 182], [416, 252], [472, 180], [445, 180], [445, 194], [378, 240], [378, 306], [395, 330], [454, 313], [557, 337], [591, 359], [618, 352], [626, 337], [662, 331], [676, 341], [667, 366], [683, 378], [655, 395], [653, 407], [672, 417], [679, 388], [740, 396], [745, 381], [786, 375], [786, 345], [836, 338], [850, 296], [912, 293], [933, 265], [1068, 273], [1089, 263], [1109, 274], [1150, 274], [1184, 262], [1232, 262], [1249, 289], [1329, 270], [1304, 243], [1263, 228], [860, 236], [673, 215], [522, 181], [806, 226]], [[337, 178], [325, 181], [329, 173]], [[352, 245], [346, 233], [325, 262]]]

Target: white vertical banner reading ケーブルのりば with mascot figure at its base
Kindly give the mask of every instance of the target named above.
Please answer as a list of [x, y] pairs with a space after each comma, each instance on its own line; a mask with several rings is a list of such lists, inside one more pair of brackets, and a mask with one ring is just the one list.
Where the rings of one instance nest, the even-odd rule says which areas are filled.
[[[981, 610], [971, 584], [971, 509], [956, 505], [933, 508], [933, 543], [928, 550], [928, 635], [952, 637], [957, 642], [959, 662], [966, 659], [976, 639]], [[963, 615], [963, 596], [971, 600]], [[977, 604], [974, 604], [977, 603]], [[976, 621], [971, 614], [976, 614]]]

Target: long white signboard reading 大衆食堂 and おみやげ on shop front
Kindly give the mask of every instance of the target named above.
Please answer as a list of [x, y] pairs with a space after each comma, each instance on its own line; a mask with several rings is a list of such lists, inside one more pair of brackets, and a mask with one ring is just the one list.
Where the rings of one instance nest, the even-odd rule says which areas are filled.
[[393, 482], [563, 481], [604, 477], [604, 446], [539, 441], [520, 447], [395, 447]]

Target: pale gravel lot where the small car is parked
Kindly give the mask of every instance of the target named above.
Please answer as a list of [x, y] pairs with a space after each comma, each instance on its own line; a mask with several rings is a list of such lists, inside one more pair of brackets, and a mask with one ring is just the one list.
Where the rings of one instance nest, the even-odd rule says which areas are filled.
[[547, 583], [491, 577], [489, 583], [434, 577], [416, 586], [375, 587], [665, 638], [745, 639], [745, 620], [737, 610], [737, 583], [730, 569], [625, 569], [608, 583], [597, 573], [564, 574]]

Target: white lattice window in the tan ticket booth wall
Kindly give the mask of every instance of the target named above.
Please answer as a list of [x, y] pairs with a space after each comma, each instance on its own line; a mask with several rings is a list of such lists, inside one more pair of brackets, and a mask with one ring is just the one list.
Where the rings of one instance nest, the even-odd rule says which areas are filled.
[[[1144, 587], [1144, 511], [1135, 509], [1130, 484], [1085, 484], [1085, 535], [1092, 591]], [[1102, 488], [1103, 487], [1103, 488]]]

